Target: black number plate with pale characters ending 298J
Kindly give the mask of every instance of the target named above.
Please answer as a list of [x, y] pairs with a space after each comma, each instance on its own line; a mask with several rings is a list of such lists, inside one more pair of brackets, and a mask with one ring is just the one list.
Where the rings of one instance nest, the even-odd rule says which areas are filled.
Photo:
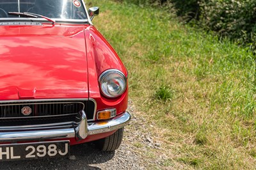
[[69, 155], [69, 141], [1, 144], [0, 162], [36, 158], [65, 157]]

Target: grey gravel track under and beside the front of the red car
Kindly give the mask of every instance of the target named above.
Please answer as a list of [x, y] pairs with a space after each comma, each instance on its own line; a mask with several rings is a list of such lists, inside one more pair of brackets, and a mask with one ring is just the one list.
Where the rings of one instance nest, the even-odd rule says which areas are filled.
[[[128, 110], [134, 115], [132, 102], [129, 104]], [[0, 169], [147, 169], [148, 163], [141, 153], [148, 147], [159, 148], [159, 144], [155, 146], [147, 134], [140, 132], [143, 120], [132, 117], [131, 125], [125, 128], [124, 141], [116, 151], [100, 152], [93, 143], [84, 143], [70, 146], [69, 158], [2, 162]], [[141, 147], [138, 149], [134, 143], [141, 143]]]

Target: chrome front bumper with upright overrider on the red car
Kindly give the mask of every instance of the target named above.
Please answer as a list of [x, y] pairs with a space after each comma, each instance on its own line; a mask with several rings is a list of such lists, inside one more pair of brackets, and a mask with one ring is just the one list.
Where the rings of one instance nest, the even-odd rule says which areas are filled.
[[17, 132], [3, 132], [0, 130], [0, 142], [33, 141], [44, 139], [62, 139], [76, 137], [77, 141], [85, 139], [88, 135], [111, 132], [122, 128], [129, 123], [131, 115], [124, 112], [106, 121], [87, 123], [86, 114], [80, 112], [81, 121], [76, 128], [56, 128], [50, 130], [21, 130]]

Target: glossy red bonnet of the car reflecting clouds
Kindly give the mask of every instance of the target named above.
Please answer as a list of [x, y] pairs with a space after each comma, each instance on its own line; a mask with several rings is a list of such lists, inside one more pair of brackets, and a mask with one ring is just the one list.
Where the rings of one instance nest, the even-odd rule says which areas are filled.
[[88, 98], [84, 26], [0, 26], [0, 100]]

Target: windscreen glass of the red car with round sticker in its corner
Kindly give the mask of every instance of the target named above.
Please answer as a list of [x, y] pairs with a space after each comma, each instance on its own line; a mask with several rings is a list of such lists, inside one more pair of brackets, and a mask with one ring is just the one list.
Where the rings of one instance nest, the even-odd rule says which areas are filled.
[[81, 0], [0, 0], [0, 18], [26, 17], [8, 12], [36, 13], [51, 19], [87, 19]]

